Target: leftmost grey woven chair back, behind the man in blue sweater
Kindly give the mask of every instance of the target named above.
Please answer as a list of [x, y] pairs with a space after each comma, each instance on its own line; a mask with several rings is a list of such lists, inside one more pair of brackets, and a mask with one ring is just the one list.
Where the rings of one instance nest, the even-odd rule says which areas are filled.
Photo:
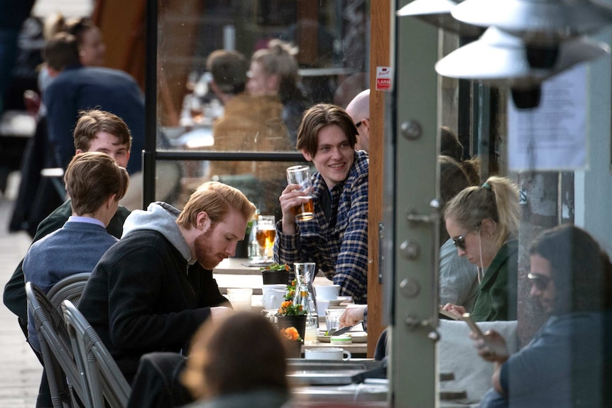
[[89, 407], [84, 370], [77, 366], [62, 314], [32, 282], [26, 282], [26, 297], [38, 333], [53, 407]]

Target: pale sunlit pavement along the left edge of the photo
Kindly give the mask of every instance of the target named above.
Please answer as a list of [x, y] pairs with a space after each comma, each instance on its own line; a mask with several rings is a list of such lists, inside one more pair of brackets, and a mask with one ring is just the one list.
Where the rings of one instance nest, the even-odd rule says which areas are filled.
[[[17, 175], [18, 176], [18, 175]], [[25, 232], [9, 233], [16, 177], [9, 178], [6, 197], [0, 193], [0, 288], [9, 281], [31, 238]], [[12, 180], [11, 180], [12, 179]], [[11, 185], [13, 186], [11, 188]], [[13, 190], [12, 192], [9, 190]], [[35, 407], [43, 368], [17, 324], [17, 316], [0, 305], [0, 408]]]

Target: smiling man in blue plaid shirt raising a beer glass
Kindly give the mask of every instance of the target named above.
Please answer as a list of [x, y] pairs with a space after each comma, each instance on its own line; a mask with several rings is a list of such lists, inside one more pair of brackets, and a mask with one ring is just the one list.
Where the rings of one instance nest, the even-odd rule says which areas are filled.
[[[340, 285], [340, 295], [367, 302], [368, 154], [355, 151], [357, 128], [339, 106], [317, 104], [305, 111], [297, 150], [315, 165], [310, 184], [293, 178], [280, 195], [283, 219], [276, 225], [274, 260], [315, 262]], [[303, 175], [302, 175], [303, 177]], [[295, 182], [292, 182], [294, 181]], [[314, 212], [307, 214], [308, 198]]]

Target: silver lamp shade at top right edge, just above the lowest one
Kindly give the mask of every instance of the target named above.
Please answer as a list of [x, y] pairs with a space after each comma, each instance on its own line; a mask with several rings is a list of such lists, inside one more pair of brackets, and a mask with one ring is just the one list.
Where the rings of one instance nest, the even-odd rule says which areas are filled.
[[558, 43], [612, 24], [612, 9], [589, 0], [465, 0], [451, 14], [535, 44]]

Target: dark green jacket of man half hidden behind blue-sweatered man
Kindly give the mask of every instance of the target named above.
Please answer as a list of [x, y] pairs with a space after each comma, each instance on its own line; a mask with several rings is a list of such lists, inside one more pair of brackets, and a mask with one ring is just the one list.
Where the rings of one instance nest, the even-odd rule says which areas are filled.
[[[43, 221], [38, 224], [38, 229], [36, 230], [36, 235], [32, 243], [35, 243], [40, 238], [48, 236], [53, 231], [57, 231], [64, 226], [68, 217], [72, 215], [70, 203], [70, 199], [66, 200], [64, 204], [58, 206], [58, 208], [49, 214], [47, 218], [43, 219]], [[124, 206], [119, 206], [109, 226], [106, 227], [106, 232], [111, 234], [111, 236], [121, 238], [121, 233], [123, 233], [124, 230], [124, 221], [126, 221], [129, 214], [129, 209], [126, 209]], [[11, 279], [4, 286], [4, 304], [18, 316], [20, 324], [27, 326], [28, 303], [26, 300], [26, 282], [23, 280], [23, 260], [17, 265]]]

